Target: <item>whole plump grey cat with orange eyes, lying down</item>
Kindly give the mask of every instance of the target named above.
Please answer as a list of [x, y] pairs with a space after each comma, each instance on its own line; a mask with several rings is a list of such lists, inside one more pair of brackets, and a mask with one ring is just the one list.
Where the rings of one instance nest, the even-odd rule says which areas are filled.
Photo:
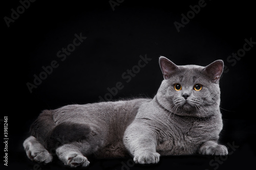
[[223, 61], [178, 66], [161, 56], [159, 64], [164, 80], [153, 99], [42, 111], [23, 143], [29, 159], [49, 163], [56, 154], [65, 165], [86, 167], [88, 156], [151, 164], [160, 155], [227, 155], [218, 143]]

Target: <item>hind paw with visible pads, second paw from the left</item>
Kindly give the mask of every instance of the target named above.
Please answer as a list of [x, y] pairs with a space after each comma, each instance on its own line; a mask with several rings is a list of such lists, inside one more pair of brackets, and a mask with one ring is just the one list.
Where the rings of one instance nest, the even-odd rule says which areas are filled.
[[77, 167], [77, 166], [87, 167], [89, 164], [90, 162], [88, 161], [88, 159], [78, 153], [69, 154], [67, 157], [67, 161], [65, 163], [65, 165], [69, 165], [71, 167]]

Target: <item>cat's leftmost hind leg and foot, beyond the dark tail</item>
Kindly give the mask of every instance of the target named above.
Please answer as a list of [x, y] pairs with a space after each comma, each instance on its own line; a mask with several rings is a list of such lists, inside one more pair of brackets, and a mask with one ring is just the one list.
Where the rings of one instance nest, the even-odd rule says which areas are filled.
[[52, 161], [52, 155], [45, 149], [45, 147], [38, 142], [34, 136], [28, 137], [23, 142], [23, 147], [30, 160], [36, 162], [49, 163]]

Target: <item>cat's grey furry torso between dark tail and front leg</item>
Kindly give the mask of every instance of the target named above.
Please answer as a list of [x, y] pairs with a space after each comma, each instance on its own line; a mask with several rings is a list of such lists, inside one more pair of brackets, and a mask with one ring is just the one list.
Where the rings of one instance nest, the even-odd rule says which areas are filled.
[[[68, 122], [89, 125], [92, 134], [97, 133], [95, 136], [101, 138], [97, 140], [100, 149], [94, 153], [96, 157], [124, 157], [129, 156], [123, 144], [124, 131], [133, 122], [139, 107], [149, 101], [151, 100], [134, 99], [86, 105], [68, 105], [53, 110], [53, 120], [56, 124]], [[61, 140], [65, 142], [65, 137]]]

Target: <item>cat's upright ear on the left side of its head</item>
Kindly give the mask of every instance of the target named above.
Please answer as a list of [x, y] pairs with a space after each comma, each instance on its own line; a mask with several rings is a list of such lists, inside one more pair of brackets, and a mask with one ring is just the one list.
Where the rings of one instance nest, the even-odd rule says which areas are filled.
[[177, 65], [175, 65], [172, 61], [163, 56], [159, 58], [159, 65], [161, 67], [164, 79], [169, 79], [170, 76], [172, 76], [172, 74], [178, 68]]

